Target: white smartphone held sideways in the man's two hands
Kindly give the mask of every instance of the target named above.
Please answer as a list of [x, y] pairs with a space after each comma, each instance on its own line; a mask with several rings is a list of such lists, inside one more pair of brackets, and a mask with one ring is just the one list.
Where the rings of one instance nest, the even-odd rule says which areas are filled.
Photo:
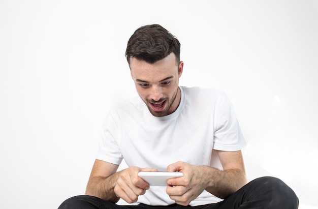
[[145, 172], [141, 171], [138, 176], [145, 180], [150, 186], [167, 186], [169, 178], [183, 176], [181, 172]]

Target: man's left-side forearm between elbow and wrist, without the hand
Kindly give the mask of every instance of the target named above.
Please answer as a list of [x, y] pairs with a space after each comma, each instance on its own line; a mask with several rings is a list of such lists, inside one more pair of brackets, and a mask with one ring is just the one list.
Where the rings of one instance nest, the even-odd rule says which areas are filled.
[[119, 197], [114, 192], [118, 173], [111, 176], [94, 176], [90, 177], [87, 183], [85, 195], [99, 197], [101, 199], [116, 203]]

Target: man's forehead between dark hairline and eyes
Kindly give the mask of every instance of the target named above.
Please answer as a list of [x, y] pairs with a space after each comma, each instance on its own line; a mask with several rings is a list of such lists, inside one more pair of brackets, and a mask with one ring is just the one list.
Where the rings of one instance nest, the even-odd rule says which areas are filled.
[[178, 72], [174, 53], [155, 63], [147, 63], [133, 57], [131, 59], [131, 73], [134, 80], [160, 81], [163, 78], [174, 75]]

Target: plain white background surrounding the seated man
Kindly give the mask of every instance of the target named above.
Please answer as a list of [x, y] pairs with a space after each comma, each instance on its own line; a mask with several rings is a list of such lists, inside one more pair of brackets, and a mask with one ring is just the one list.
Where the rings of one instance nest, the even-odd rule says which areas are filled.
[[135, 29], [181, 42], [181, 85], [223, 89], [249, 180], [273, 175], [318, 207], [318, 1], [0, 1], [0, 207], [83, 194], [110, 107], [136, 95]]

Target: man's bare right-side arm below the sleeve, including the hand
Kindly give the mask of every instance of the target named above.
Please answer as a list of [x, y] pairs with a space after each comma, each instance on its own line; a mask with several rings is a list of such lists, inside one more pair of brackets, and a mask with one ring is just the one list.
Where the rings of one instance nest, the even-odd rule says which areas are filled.
[[194, 166], [177, 162], [168, 166], [167, 171], [183, 172], [184, 176], [168, 180], [167, 193], [177, 204], [188, 205], [203, 190], [226, 198], [246, 184], [245, 168], [241, 151], [217, 152], [224, 170], [209, 166]]

